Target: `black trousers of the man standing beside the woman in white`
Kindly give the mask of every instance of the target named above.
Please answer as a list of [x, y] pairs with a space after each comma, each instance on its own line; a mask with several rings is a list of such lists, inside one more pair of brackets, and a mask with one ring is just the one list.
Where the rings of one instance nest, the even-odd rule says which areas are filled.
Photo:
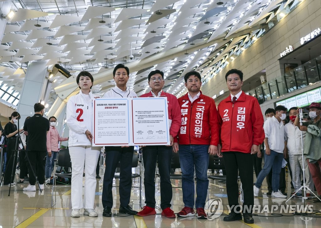
[[134, 147], [108, 146], [106, 150], [106, 169], [102, 188], [102, 205], [111, 208], [113, 206], [113, 179], [115, 170], [120, 162], [119, 178], [119, 201], [120, 206], [126, 207], [129, 204], [132, 187], [132, 160]]

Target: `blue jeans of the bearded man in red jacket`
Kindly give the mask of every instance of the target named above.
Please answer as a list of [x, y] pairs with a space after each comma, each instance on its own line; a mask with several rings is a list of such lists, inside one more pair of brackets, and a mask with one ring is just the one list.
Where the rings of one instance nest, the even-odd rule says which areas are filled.
[[179, 145], [184, 206], [194, 207], [194, 168], [196, 173], [196, 208], [204, 208], [208, 189], [209, 145]]

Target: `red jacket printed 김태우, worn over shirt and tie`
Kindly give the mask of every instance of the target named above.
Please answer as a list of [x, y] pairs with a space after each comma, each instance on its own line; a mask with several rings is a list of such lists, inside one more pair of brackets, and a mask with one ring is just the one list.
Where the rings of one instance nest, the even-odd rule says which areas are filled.
[[228, 96], [218, 105], [218, 118], [221, 125], [221, 151], [250, 153], [253, 144], [264, 141], [263, 115], [256, 98], [241, 93], [232, 104]]

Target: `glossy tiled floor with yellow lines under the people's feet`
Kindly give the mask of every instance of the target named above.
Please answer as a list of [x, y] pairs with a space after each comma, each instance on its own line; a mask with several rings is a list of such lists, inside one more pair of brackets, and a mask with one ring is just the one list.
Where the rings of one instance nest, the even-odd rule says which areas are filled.
[[[101, 170], [102, 172], [102, 170]], [[133, 173], [138, 170], [133, 170]], [[179, 174], [180, 170], [176, 169]], [[209, 173], [210, 174], [210, 170]], [[103, 178], [103, 175], [100, 175]], [[18, 174], [16, 174], [18, 177]], [[16, 182], [16, 180], [15, 180]], [[119, 181], [114, 180], [114, 186], [118, 186]], [[259, 197], [255, 197], [256, 211], [254, 216], [254, 224], [246, 224], [241, 221], [224, 222], [224, 215], [228, 213], [226, 206], [226, 186], [219, 181], [210, 180], [209, 196], [210, 199], [220, 198], [223, 205], [223, 214], [212, 220], [197, 219], [195, 217], [169, 219], [160, 215], [160, 208], [156, 208], [158, 214], [139, 217], [139, 216], [117, 216], [113, 215], [111, 218], [102, 217], [103, 207], [101, 204], [102, 193], [102, 179], [97, 179], [95, 206], [98, 212], [98, 217], [92, 218], [81, 214], [80, 218], [72, 218], [71, 214], [71, 201], [70, 201], [70, 187], [62, 186], [56, 189], [57, 201], [56, 205], [51, 208], [51, 185], [47, 185], [45, 190], [40, 193], [37, 187], [36, 192], [23, 192], [22, 188], [28, 185], [16, 184], [12, 186], [10, 196], [9, 186], [0, 187], [0, 227], [263, 227], [269, 228], [278, 227], [320, 227], [321, 213], [319, 218], [307, 217], [304, 215], [293, 215], [293, 207], [308, 208], [320, 211], [321, 204], [314, 204], [312, 199], [302, 202], [301, 198], [292, 198], [288, 203], [286, 199], [271, 198], [266, 195], [267, 187], [264, 181], [262, 191]], [[139, 179], [133, 179], [133, 186], [139, 187]], [[175, 213], [183, 208], [181, 180], [172, 180], [173, 198], [172, 209]], [[290, 196], [291, 187], [287, 177], [287, 193]], [[293, 189], [292, 189], [293, 190]], [[113, 188], [114, 207], [113, 213], [117, 214], [119, 208], [119, 193], [118, 187]], [[142, 189], [142, 206], [144, 206], [144, 188]], [[159, 191], [159, 178], [156, 178], [156, 204], [160, 204], [160, 191]], [[289, 198], [289, 197], [288, 197]], [[133, 209], [140, 210], [139, 206], [139, 188], [132, 188], [131, 202]], [[267, 217], [271, 215], [271, 209], [274, 213], [280, 213], [280, 208], [283, 208], [282, 217]], [[285, 211], [284, 211], [285, 210]], [[288, 210], [288, 211], [287, 211]], [[259, 213], [258, 213], [259, 212]], [[81, 210], [83, 213], [83, 210]], [[211, 214], [211, 212], [209, 211]]]

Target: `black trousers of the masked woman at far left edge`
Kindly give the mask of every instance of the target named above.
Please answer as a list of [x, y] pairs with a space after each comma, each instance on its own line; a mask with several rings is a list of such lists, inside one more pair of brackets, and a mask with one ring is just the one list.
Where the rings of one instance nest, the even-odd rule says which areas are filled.
[[[14, 153], [15, 153], [15, 145], [16, 145], [16, 138], [9, 138], [7, 141], [7, 162], [6, 162], [6, 167], [5, 167], [5, 175], [4, 175], [4, 185], [8, 185], [13, 182], [14, 176], [15, 176], [15, 171], [17, 167], [17, 155], [14, 158]], [[13, 176], [11, 177], [12, 174], [12, 168], [13, 168]]]

